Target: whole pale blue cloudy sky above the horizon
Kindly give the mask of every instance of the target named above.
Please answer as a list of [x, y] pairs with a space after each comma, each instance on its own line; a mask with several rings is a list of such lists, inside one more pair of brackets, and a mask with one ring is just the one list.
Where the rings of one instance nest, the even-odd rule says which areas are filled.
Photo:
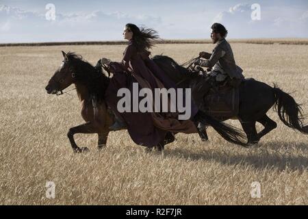
[[[47, 3], [55, 20], [45, 17]], [[260, 6], [253, 20], [251, 5]], [[214, 22], [228, 38], [308, 38], [308, 1], [1, 1], [0, 42], [122, 40], [125, 23], [151, 27], [166, 39], [209, 38]]]

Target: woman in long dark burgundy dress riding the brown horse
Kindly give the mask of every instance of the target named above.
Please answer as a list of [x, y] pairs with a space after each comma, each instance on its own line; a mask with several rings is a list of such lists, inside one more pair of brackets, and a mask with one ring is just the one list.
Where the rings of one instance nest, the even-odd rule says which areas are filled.
[[[157, 113], [157, 112], [118, 112], [117, 103], [122, 97], [117, 96], [118, 89], [128, 88], [133, 93], [133, 83], [138, 83], [140, 88], [176, 88], [173, 83], [153, 60], [149, 58], [149, 49], [153, 46], [153, 40], [157, 40], [157, 32], [153, 29], [139, 28], [128, 23], [125, 25], [123, 36], [129, 41], [122, 62], [109, 62], [109, 70], [114, 73], [110, 86], [105, 92], [107, 105], [111, 107], [118, 117], [112, 129], [118, 130], [123, 127], [122, 120], [131, 138], [136, 144], [144, 146], [156, 146], [166, 137], [168, 131], [195, 133], [196, 127], [191, 120], [178, 120], [178, 113]], [[154, 95], [153, 95], [154, 96]], [[132, 106], [131, 106], [132, 107]], [[192, 105], [192, 117], [198, 110]], [[122, 122], [122, 123], [123, 123]]]

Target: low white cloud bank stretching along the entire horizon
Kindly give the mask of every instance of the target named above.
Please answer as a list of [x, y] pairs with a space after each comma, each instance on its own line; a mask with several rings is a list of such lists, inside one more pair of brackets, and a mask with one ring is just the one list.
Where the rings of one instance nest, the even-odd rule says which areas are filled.
[[[171, 11], [171, 10], [170, 10]], [[129, 12], [129, 10], [127, 11]], [[216, 14], [217, 12], [217, 14]], [[162, 38], [209, 38], [212, 23], [229, 30], [228, 38], [308, 37], [308, 10], [261, 4], [261, 20], [251, 19], [251, 4], [240, 3], [226, 10], [168, 13], [159, 11], [131, 14], [95, 10], [88, 13], [56, 14], [47, 21], [45, 14], [0, 5], [0, 42], [46, 42], [121, 40], [126, 23], [136, 23], [159, 31]]]

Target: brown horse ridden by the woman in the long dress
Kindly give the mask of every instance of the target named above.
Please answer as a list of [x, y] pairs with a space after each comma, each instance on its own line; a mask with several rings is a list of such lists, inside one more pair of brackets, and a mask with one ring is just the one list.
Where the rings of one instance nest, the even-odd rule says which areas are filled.
[[[75, 84], [79, 100], [81, 101], [81, 116], [86, 123], [72, 127], [69, 129], [67, 136], [73, 151], [80, 153], [88, 151], [86, 147], [79, 148], [77, 146], [74, 135], [76, 133], [98, 133], [98, 147], [101, 149], [107, 142], [107, 136], [110, 132], [110, 125], [114, 123], [114, 115], [108, 110], [107, 104], [104, 101], [105, 90], [110, 83], [110, 77], [103, 73], [101, 66], [96, 68], [82, 60], [80, 55], [75, 53], [64, 53], [64, 61], [60, 68], [55, 71], [55, 74], [48, 82], [46, 90], [48, 94], [63, 94], [63, 90]], [[198, 117], [211, 127], [213, 127], [225, 140], [244, 145], [242, 138], [244, 135], [240, 130], [235, 129], [227, 124], [224, 124], [211, 116], [198, 114]], [[165, 140], [166, 141], [166, 140]], [[170, 142], [170, 141], [166, 141]], [[164, 145], [157, 146], [158, 150], [164, 149]]]

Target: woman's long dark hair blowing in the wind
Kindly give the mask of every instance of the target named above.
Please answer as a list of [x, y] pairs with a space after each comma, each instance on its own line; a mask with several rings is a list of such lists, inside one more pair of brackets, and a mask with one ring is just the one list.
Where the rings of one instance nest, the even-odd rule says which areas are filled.
[[139, 28], [132, 23], [127, 23], [125, 28], [133, 32], [133, 41], [138, 51], [148, 51], [153, 47], [153, 42], [159, 39], [157, 31], [151, 28]]

